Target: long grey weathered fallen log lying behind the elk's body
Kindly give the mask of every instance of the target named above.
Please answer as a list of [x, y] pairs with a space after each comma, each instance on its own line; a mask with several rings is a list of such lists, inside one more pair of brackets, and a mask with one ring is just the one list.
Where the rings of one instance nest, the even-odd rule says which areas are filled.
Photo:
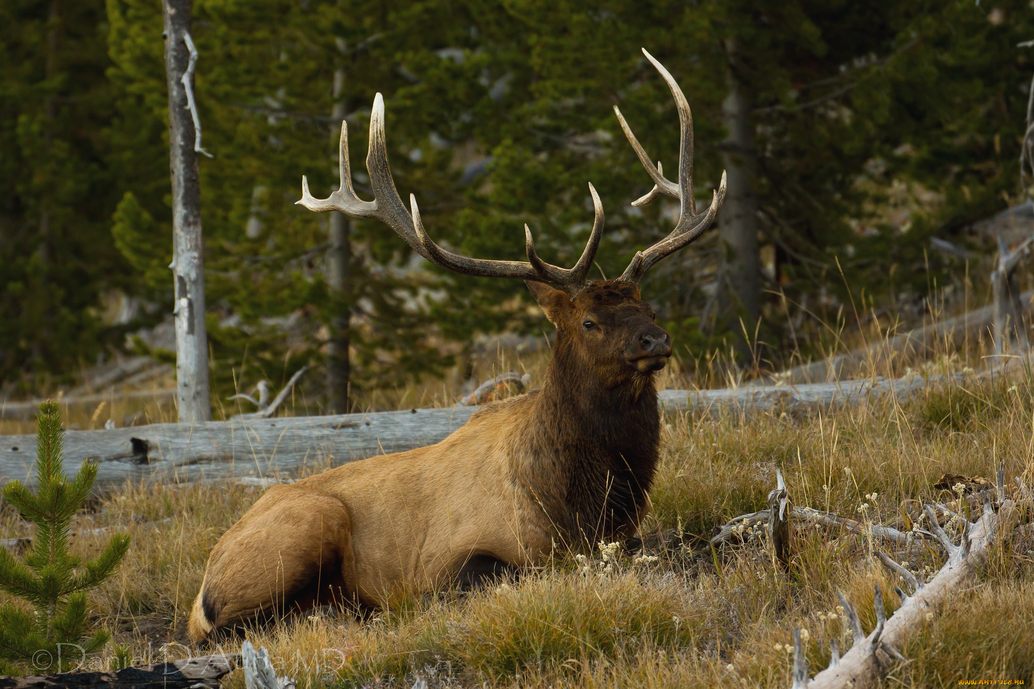
[[[665, 410], [694, 413], [796, 412], [907, 396], [921, 378], [852, 380], [720, 390], [662, 390]], [[153, 424], [104, 431], [67, 431], [67, 466], [98, 463], [94, 491], [126, 481], [192, 483], [245, 476], [291, 476], [306, 467], [332, 467], [444, 440], [478, 407], [410, 409], [336, 416], [241, 417], [201, 424]], [[0, 484], [31, 483], [34, 435], [0, 436]]]

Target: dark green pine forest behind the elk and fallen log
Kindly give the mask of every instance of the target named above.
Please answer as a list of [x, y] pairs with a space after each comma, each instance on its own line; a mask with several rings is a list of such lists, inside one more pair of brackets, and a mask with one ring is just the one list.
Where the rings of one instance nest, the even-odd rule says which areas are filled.
[[[1026, 198], [1034, 48], [1017, 44], [1034, 38], [1032, 5], [196, 0], [213, 396], [323, 366], [340, 309], [356, 405], [463, 375], [478, 337], [542, 337], [522, 284], [432, 268], [376, 221], [348, 223], [348, 289], [328, 289], [329, 214], [294, 202], [303, 174], [317, 195], [336, 188], [341, 119], [370, 197], [378, 91], [396, 184], [417, 194], [431, 237], [521, 259], [526, 222], [541, 255], [570, 264], [591, 182], [607, 215], [599, 267], [619, 274], [677, 216], [630, 206], [651, 184], [612, 105], [669, 169], [678, 137], [640, 48], [693, 107], [698, 203], [730, 170], [716, 228], [643, 286], [683, 370], [716, 357], [779, 370], [874, 318], [986, 301], [975, 276], [994, 240], [974, 223]], [[172, 311], [161, 33], [158, 0], [0, 3], [5, 397], [49, 394], [131, 352], [172, 356], [139, 335]], [[304, 382], [317, 401], [321, 381]]]

